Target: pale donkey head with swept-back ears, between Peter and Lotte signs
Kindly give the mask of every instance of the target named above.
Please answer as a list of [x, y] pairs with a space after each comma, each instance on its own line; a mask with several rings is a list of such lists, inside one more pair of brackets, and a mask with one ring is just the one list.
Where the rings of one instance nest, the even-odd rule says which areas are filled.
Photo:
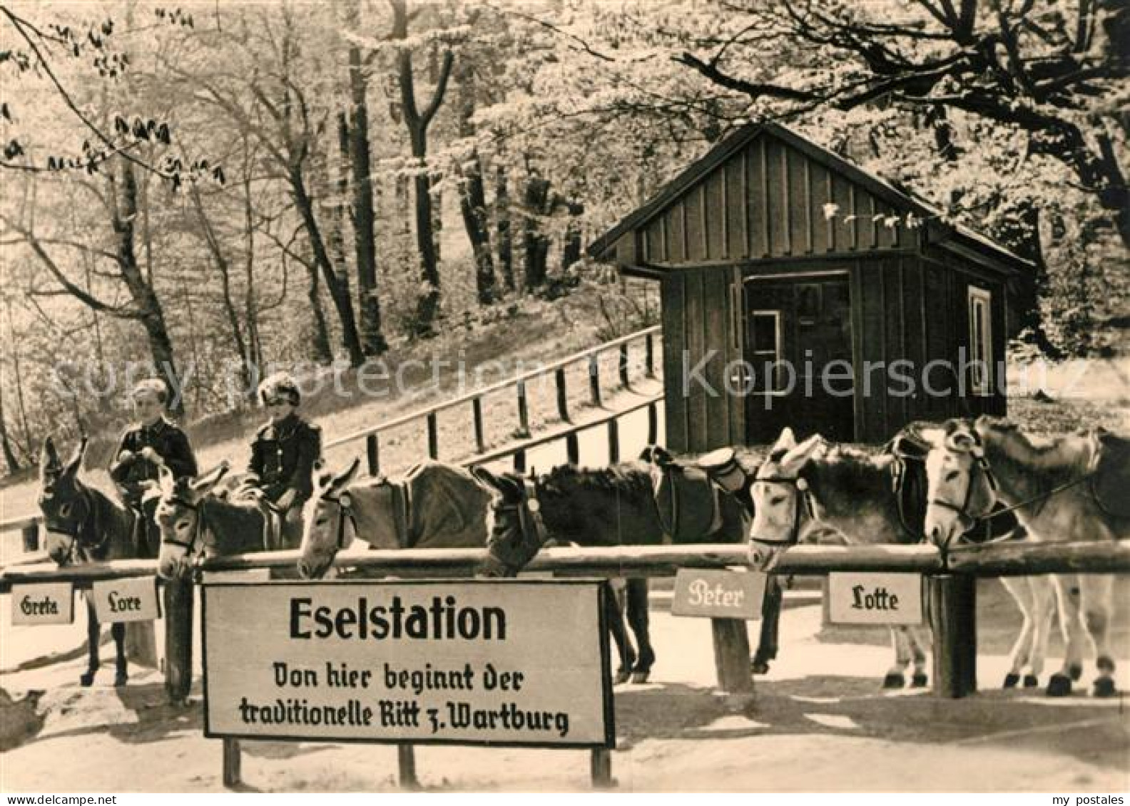
[[751, 560], [760, 564], [763, 557], [757, 543], [786, 545], [796, 543], [800, 532], [802, 496], [808, 482], [801, 476], [803, 466], [827, 448], [819, 435], [797, 444], [791, 428], [781, 431], [754, 476], [750, 497], [754, 501], [754, 524], [749, 529]]

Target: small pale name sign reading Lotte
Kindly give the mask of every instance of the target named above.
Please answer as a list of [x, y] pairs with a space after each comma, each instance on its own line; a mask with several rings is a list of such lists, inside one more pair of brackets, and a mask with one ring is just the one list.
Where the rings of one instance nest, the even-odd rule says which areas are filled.
[[919, 573], [829, 573], [827, 616], [833, 624], [921, 624]]

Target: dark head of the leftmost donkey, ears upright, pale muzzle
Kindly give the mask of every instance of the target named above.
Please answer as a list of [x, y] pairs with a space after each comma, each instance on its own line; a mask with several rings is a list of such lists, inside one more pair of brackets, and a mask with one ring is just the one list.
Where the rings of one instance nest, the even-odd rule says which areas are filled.
[[40, 458], [40, 510], [47, 533], [47, 555], [60, 566], [75, 559], [75, 551], [84, 541], [97, 542], [101, 537], [89, 534], [94, 505], [87, 489], [78, 480], [84, 453], [85, 436], [70, 461], [63, 464], [51, 437], [43, 440]]

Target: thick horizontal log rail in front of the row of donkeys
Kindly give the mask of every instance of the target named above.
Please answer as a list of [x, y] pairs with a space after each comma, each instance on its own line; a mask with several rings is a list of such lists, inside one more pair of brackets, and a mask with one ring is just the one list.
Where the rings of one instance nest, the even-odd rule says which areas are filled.
[[[200, 563], [205, 571], [294, 569], [297, 550], [217, 557]], [[486, 558], [486, 549], [411, 549], [339, 553], [334, 566], [371, 569], [398, 576], [469, 575]], [[945, 561], [944, 561], [945, 560]], [[672, 576], [679, 568], [746, 566], [746, 546], [733, 543], [701, 545], [562, 546], [546, 549], [525, 567], [568, 576]], [[84, 566], [53, 563], [0, 569], [0, 593], [12, 585], [70, 581], [89, 587], [101, 579], [149, 576], [156, 560], [114, 560]], [[823, 575], [833, 571], [955, 573], [977, 577], [1034, 573], [1130, 573], [1130, 540], [1112, 543], [993, 544], [976, 552], [942, 558], [930, 545], [796, 545], [779, 557], [775, 573]]]

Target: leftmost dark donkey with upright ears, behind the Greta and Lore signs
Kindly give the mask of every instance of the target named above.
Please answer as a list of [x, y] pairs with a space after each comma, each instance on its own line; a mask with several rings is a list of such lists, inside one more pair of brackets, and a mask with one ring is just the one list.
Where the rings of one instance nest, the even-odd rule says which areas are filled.
[[[104, 562], [142, 557], [134, 536], [137, 516], [101, 490], [87, 487], [78, 479], [86, 452], [84, 436], [75, 455], [63, 465], [54, 441], [43, 441], [40, 461], [40, 510], [46, 529], [47, 555], [59, 566]], [[86, 637], [89, 649], [86, 672], [79, 677], [84, 686], [94, 684], [98, 671], [98, 617], [94, 601], [87, 599]], [[129, 666], [125, 659], [125, 624], [110, 628], [114, 637], [114, 685], [125, 685]]]

